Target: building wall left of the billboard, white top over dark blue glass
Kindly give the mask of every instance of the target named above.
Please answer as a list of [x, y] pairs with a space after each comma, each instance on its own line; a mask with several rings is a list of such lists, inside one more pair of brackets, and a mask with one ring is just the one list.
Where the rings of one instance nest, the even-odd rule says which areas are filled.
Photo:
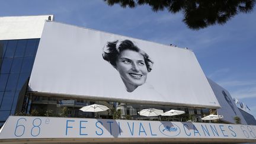
[[0, 18], [0, 125], [23, 107], [44, 20], [49, 18], [53, 15]]

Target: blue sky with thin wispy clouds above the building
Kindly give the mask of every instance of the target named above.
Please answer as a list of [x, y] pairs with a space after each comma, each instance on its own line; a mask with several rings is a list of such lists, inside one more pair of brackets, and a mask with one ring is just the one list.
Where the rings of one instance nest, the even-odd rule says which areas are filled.
[[[0, 0], [2, 16], [55, 15], [55, 21], [137, 39], [192, 49], [210, 79], [251, 108], [256, 117], [256, 12], [239, 14], [225, 25], [194, 31], [183, 15], [152, 12], [147, 5], [123, 9], [103, 0]], [[255, 8], [254, 8], [255, 9]]]

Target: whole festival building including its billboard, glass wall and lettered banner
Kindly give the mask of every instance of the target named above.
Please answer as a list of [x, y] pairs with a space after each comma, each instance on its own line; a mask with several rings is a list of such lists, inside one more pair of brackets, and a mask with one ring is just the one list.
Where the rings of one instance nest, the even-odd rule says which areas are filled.
[[[0, 142], [255, 142], [254, 117], [206, 78], [192, 50], [52, 20], [0, 18]], [[91, 104], [110, 110], [79, 110]], [[142, 116], [146, 108], [185, 114]], [[202, 123], [209, 114], [222, 123]]]

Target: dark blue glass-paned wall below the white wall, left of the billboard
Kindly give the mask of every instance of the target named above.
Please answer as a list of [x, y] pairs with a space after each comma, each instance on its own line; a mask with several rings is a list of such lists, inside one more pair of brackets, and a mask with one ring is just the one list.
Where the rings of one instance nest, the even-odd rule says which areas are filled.
[[0, 40], [0, 126], [24, 97], [40, 39]]

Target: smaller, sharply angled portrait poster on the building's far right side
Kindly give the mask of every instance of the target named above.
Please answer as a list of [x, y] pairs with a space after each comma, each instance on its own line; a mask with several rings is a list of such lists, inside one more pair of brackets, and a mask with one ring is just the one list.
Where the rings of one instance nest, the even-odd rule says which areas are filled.
[[247, 124], [229, 92], [211, 79], [208, 78], [208, 81], [219, 101], [221, 108], [217, 109], [217, 112], [224, 116], [222, 120], [228, 121], [229, 123], [235, 123], [234, 117], [237, 116], [240, 117], [242, 124]]

